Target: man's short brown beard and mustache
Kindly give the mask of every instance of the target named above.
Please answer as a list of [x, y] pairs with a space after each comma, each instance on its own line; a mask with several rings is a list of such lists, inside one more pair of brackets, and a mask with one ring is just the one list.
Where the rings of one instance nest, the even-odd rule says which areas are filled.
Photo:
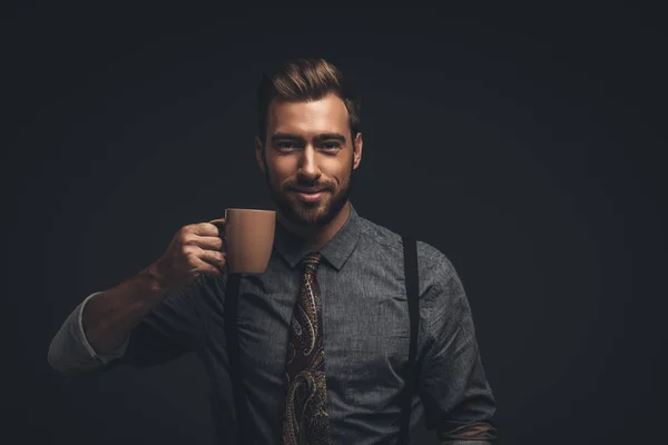
[[[267, 164], [265, 160], [265, 180], [267, 182], [267, 187], [269, 189], [269, 195], [272, 200], [276, 205], [276, 208], [287, 219], [289, 222], [294, 224], [297, 227], [323, 227], [332, 221], [336, 215], [341, 211], [345, 202], [351, 196], [351, 191], [353, 188], [353, 169], [351, 168], [351, 174], [348, 175], [347, 185], [343, 186], [344, 188], [336, 191], [335, 195], [331, 196], [331, 199], [323, 207], [322, 201], [316, 201], [314, 204], [303, 202], [299, 199], [289, 197], [287, 194], [289, 191], [276, 189], [269, 179], [269, 169], [267, 168]], [[308, 187], [307, 184], [296, 184], [296, 187], [303, 186]], [[325, 190], [323, 194], [332, 194], [330, 189]]]

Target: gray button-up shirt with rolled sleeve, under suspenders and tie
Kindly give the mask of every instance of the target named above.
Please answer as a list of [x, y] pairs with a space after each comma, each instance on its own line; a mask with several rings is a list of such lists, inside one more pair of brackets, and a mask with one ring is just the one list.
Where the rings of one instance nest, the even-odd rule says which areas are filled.
[[[243, 276], [240, 283], [246, 412], [262, 444], [281, 443], [288, 326], [299, 284], [297, 264], [307, 253], [276, 225], [268, 269]], [[333, 443], [394, 444], [410, 338], [401, 236], [361, 217], [351, 205], [344, 227], [320, 253]], [[418, 265], [419, 380], [411, 424], [424, 414], [426, 428], [436, 428], [441, 439], [461, 441], [448, 443], [487, 444], [494, 433], [495, 405], [462, 283], [451, 261], [423, 241], [418, 241]], [[118, 350], [106, 354], [91, 348], [81, 326], [84, 305], [94, 294], [53, 337], [49, 363], [62, 373], [78, 373], [117, 364], [153, 366], [195, 353], [210, 378], [213, 418], [223, 443], [236, 427], [225, 348], [225, 275], [199, 276], [156, 306]], [[488, 433], [477, 436], [480, 428]], [[465, 434], [471, 439], [463, 439]]]

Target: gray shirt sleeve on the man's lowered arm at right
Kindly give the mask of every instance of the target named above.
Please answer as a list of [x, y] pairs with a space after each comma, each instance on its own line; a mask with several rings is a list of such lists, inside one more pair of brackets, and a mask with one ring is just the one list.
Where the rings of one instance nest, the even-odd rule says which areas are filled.
[[462, 281], [442, 258], [428, 290], [426, 343], [419, 385], [425, 426], [443, 444], [482, 445], [495, 439], [495, 402], [480, 357]]

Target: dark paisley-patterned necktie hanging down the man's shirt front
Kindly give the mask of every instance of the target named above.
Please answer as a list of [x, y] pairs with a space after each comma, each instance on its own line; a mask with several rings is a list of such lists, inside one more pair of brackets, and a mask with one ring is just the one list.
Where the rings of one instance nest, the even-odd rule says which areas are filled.
[[322, 299], [315, 279], [321, 258], [320, 254], [308, 254], [301, 263], [304, 274], [287, 345], [284, 445], [331, 444]]

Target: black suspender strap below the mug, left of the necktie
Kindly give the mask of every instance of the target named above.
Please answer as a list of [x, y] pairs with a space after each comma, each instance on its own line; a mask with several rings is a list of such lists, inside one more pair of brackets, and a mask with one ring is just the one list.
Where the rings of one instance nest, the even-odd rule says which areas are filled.
[[[239, 274], [229, 274], [225, 285], [225, 345], [227, 348], [227, 358], [229, 360], [229, 377], [232, 380], [232, 390], [234, 396], [234, 407], [236, 415], [236, 432], [229, 432], [229, 438], [233, 438], [232, 444], [249, 444], [247, 428], [244, 415], [245, 393], [244, 382], [239, 366], [239, 335], [237, 329], [237, 309], [239, 301], [239, 285], [242, 276]], [[237, 437], [235, 433], [238, 434]]]

